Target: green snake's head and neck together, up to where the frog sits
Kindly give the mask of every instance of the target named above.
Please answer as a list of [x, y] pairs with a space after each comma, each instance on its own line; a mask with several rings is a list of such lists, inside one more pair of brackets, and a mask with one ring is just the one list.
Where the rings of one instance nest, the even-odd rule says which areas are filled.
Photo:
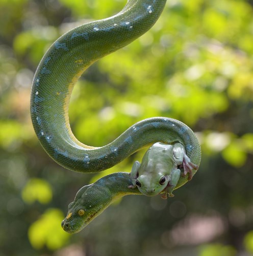
[[62, 221], [63, 229], [68, 233], [79, 232], [118, 198], [142, 195], [137, 187], [130, 188], [131, 185], [129, 173], [120, 172], [83, 186], [68, 206], [67, 217]]

